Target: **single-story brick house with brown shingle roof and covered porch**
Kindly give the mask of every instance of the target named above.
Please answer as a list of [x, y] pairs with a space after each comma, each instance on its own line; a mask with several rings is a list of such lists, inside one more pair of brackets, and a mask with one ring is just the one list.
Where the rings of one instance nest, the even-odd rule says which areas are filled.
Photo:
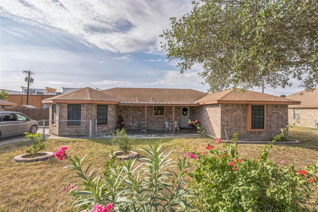
[[[124, 122], [125, 129], [163, 130], [165, 121], [187, 128], [189, 119], [199, 120], [205, 133], [213, 138], [268, 139], [288, 124], [288, 105], [299, 101], [254, 91], [245, 93], [227, 89], [203, 93], [193, 89], [111, 88], [97, 91], [81, 88], [54, 96], [43, 103], [50, 105], [50, 133], [87, 129], [85, 122], [97, 119], [98, 133], [109, 133]], [[54, 122], [55, 120], [55, 122]], [[74, 124], [59, 120], [71, 120]]]

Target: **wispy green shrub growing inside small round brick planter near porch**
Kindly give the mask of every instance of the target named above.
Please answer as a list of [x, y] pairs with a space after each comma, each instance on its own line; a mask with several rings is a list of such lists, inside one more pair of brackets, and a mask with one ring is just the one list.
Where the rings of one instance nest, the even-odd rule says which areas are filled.
[[115, 130], [115, 132], [112, 132], [112, 136], [112, 142], [118, 146], [120, 151], [123, 151], [124, 154], [128, 154], [128, 152], [131, 151], [131, 143], [134, 141], [134, 139], [128, 137], [124, 128], [121, 130]]

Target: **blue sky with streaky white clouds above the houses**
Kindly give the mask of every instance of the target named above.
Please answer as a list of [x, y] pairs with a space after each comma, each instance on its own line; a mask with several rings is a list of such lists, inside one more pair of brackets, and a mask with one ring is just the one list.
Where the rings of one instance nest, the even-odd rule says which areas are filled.
[[[22, 71], [31, 70], [37, 73], [32, 75], [35, 88], [58, 91], [61, 87], [146, 87], [206, 92], [208, 86], [197, 75], [201, 66], [195, 64], [192, 71], [180, 74], [177, 61], [167, 61], [159, 43], [169, 18], [179, 18], [191, 8], [191, 1], [177, 0], [2, 0], [0, 88], [20, 90], [25, 86]], [[281, 95], [303, 90], [296, 83], [265, 92]]]

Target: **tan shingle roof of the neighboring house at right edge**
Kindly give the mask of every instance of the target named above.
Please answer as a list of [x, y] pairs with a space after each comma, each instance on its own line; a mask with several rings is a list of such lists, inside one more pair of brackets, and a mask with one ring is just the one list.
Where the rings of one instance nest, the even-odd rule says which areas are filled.
[[[302, 95], [301, 95], [302, 94]], [[318, 107], [318, 88], [315, 88], [312, 92], [306, 92], [305, 90], [295, 94], [286, 96], [289, 99], [301, 101], [300, 105], [289, 105], [288, 107]]]

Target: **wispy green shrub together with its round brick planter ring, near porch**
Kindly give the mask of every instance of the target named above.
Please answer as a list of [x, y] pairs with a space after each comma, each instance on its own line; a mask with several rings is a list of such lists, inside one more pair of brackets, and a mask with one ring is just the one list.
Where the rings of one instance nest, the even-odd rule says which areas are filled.
[[112, 136], [112, 142], [118, 146], [119, 151], [115, 151], [113, 152], [113, 154], [109, 154], [110, 158], [112, 158], [113, 155], [117, 156], [117, 160], [128, 160], [129, 158], [137, 158], [137, 152], [131, 150], [131, 143], [134, 141], [134, 139], [129, 138], [124, 128], [122, 128], [121, 130], [115, 130], [114, 132], [112, 132]]

